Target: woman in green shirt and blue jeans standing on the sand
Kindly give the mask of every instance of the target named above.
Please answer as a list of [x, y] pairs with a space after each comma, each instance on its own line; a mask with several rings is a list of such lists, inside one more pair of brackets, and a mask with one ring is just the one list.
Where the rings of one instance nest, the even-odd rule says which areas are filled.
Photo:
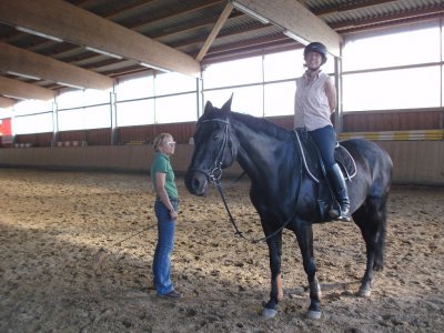
[[154, 212], [158, 219], [158, 244], [153, 260], [154, 286], [159, 297], [181, 299], [171, 282], [171, 253], [174, 249], [175, 222], [178, 220], [178, 188], [170, 157], [174, 153], [175, 142], [169, 133], [154, 139], [154, 161], [151, 165], [151, 181], [157, 199]]

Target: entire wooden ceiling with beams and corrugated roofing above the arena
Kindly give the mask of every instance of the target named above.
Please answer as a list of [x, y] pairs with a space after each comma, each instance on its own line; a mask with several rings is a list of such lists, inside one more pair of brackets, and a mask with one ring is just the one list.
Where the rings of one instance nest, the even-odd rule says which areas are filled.
[[1, 0], [0, 108], [313, 40], [337, 56], [345, 33], [442, 18], [442, 0]]

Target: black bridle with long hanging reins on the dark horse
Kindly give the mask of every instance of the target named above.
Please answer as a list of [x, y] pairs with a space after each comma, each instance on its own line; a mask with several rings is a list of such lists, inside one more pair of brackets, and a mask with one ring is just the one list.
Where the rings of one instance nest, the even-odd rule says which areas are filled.
[[[223, 190], [222, 190], [222, 182], [221, 182], [223, 154], [224, 154], [224, 151], [226, 149], [226, 145], [230, 143], [229, 142], [230, 120], [229, 119], [225, 119], [225, 120], [223, 120], [223, 119], [208, 119], [208, 120], [201, 121], [200, 124], [206, 123], [206, 122], [222, 122], [222, 123], [225, 124], [225, 128], [224, 128], [224, 131], [223, 131], [223, 138], [222, 138], [221, 147], [219, 148], [216, 158], [214, 160], [214, 163], [213, 163], [212, 168], [210, 168], [210, 171], [206, 171], [206, 170], [203, 170], [203, 169], [196, 169], [196, 168], [191, 168], [190, 171], [203, 173], [206, 176], [206, 179], [210, 180], [210, 182], [218, 189], [218, 192], [221, 195], [223, 205], [225, 206], [226, 213], [229, 214], [230, 222], [234, 226], [234, 230], [235, 230], [234, 234], [239, 235], [240, 238], [242, 238], [242, 239], [244, 239], [244, 240], [246, 240], [246, 241], [249, 241], [249, 242], [251, 242], [253, 244], [256, 244], [259, 242], [266, 241], [266, 240], [271, 239], [272, 236], [274, 236], [278, 233], [280, 233], [294, 219], [294, 216], [296, 215], [296, 209], [294, 209], [294, 211], [291, 214], [291, 216], [278, 230], [273, 231], [271, 234], [269, 234], [266, 236], [263, 236], [261, 239], [256, 239], [256, 240], [246, 238], [243, 234], [243, 232], [239, 230], [238, 224], [236, 224], [233, 215], [231, 214], [230, 208], [229, 208], [229, 205], [226, 203], [226, 199], [225, 199], [225, 195], [224, 195]], [[234, 151], [233, 151], [232, 144], [231, 144], [231, 155], [232, 155], [232, 158], [234, 160], [235, 157], [234, 157]], [[301, 172], [302, 172], [302, 168], [301, 168]], [[301, 186], [301, 176], [299, 178], [299, 180], [300, 181], [299, 181], [299, 184], [297, 184], [295, 206], [297, 205], [299, 190], [300, 190], [300, 186]]]

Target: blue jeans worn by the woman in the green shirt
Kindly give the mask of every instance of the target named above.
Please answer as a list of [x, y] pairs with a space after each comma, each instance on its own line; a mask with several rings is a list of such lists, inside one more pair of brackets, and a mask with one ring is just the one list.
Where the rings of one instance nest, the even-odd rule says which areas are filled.
[[[178, 200], [171, 199], [174, 210], [178, 210]], [[171, 220], [170, 211], [160, 201], [155, 200], [154, 212], [158, 218], [158, 244], [154, 251], [153, 276], [158, 294], [167, 294], [172, 291], [171, 282], [171, 254], [174, 250], [175, 221]]]

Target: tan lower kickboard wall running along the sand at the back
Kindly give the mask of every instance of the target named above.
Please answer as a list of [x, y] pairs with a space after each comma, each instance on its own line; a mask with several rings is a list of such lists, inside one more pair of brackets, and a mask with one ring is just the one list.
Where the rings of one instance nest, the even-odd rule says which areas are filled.
[[[392, 157], [394, 183], [444, 185], [444, 141], [384, 141], [379, 144]], [[178, 144], [171, 159], [178, 175], [186, 171], [192, 152], [191, 144]], [[0, 167], [118, 170], [148, 174], [153, 154], [149, 145], [4, 148], [0, 149]], [[223, 174], [238, 176], [241, 172], [235, 163]]]

